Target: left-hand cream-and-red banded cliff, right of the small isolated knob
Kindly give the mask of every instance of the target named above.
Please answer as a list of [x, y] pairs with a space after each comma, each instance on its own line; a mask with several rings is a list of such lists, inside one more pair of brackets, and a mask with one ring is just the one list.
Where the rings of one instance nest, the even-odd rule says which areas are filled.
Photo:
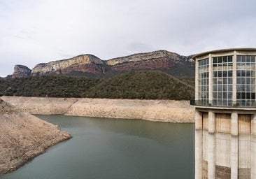
[[31, 71], [32, 76], [42, 76], [50, 73], [66, 74], [71, 71], [88, 73], [104, 73], [104, 62], [94, 55], [79, 55], [71, 59], [63, 59], [47, 64], [37, 64]]

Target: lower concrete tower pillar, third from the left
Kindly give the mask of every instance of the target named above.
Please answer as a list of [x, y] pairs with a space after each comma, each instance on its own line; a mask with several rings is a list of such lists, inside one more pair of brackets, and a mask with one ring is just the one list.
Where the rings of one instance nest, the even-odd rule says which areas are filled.
[[238, 114], [232, 112], [231, 115], [231, 141], [230, 141], [230, 167], [231, 167], [231, 179], [238, 178], [239, 170], [239, 120]]

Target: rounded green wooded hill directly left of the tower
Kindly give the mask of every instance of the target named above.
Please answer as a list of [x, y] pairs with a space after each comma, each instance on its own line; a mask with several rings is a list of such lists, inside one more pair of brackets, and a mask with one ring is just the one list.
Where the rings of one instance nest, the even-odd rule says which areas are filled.
[[194, 88], [159, 71], [126, 73], [105, 80], [83, 94], [91, 98], [188, 100]]

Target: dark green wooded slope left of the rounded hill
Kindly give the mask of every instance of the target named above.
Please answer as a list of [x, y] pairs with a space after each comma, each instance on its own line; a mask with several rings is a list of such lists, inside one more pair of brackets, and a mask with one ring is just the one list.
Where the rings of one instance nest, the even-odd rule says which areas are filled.
[[6, 96], [80, 97], [101, 83], [97, 78], [40, 76], [0, 80], [0, 94]]

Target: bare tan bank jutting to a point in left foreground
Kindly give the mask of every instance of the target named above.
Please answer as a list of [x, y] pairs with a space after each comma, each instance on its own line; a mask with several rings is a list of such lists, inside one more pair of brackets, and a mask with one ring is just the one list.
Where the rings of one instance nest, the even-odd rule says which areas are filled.
[[0, 101], [0, 176], [14, 171], [71, 135], [29, 113], [16, 113]]

